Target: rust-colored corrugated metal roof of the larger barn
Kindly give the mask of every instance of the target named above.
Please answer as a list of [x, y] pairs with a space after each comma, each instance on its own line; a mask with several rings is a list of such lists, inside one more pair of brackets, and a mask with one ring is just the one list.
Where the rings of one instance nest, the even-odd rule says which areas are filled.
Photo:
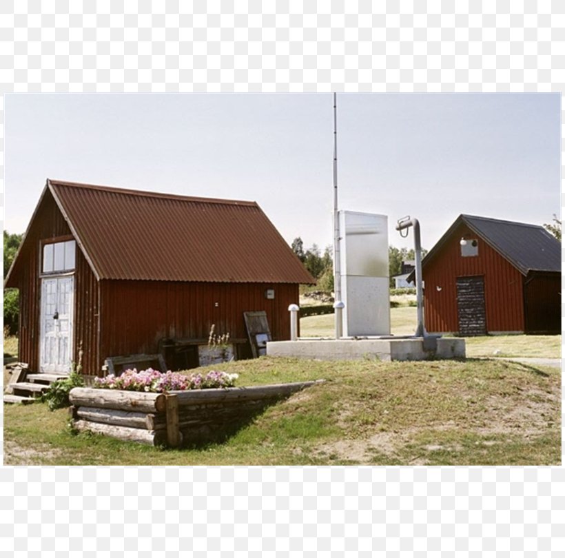
[[48, 185], [99, 279], [314, 282], [255, 202]]

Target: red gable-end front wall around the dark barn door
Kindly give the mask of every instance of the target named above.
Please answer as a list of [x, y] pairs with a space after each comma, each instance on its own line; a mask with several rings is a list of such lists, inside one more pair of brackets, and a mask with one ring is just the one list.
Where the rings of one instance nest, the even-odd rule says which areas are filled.
[[524, 331], [522, 273], [480, 238], [478, 256], [462, 257], [462, 236], [477, 238], [466, 225], [461, 225], [422, 271], [426, 329], [458, 331], [456, 280], [484, 276], [486, 330]]

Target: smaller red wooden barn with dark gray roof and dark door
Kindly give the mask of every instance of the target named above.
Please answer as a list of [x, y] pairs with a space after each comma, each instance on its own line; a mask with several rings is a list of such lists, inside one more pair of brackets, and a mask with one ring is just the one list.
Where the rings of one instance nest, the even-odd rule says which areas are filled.
[[561, 243], [543, 227], [460, 215], [422, 260], [428, 331], [561, 330]]

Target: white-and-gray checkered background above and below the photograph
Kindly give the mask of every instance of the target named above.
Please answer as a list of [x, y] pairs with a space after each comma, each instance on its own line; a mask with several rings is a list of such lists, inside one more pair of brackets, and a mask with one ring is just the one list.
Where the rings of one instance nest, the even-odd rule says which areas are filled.
[[[1, 92], [563, 88], [562, 2], [374, 4], [3, 1]], [[560, 467], [0, 470], [0, 558], [557, 557], [564, 517]]]

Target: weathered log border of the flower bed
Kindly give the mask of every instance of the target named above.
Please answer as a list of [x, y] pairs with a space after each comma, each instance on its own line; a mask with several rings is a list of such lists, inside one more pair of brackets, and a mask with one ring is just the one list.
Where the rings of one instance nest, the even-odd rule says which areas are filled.
[[77, 387], [69, 394], [70, 414], [79, 431], [175, 448], [211, 441], [270, 404], [324, 381], [168, 393]]

